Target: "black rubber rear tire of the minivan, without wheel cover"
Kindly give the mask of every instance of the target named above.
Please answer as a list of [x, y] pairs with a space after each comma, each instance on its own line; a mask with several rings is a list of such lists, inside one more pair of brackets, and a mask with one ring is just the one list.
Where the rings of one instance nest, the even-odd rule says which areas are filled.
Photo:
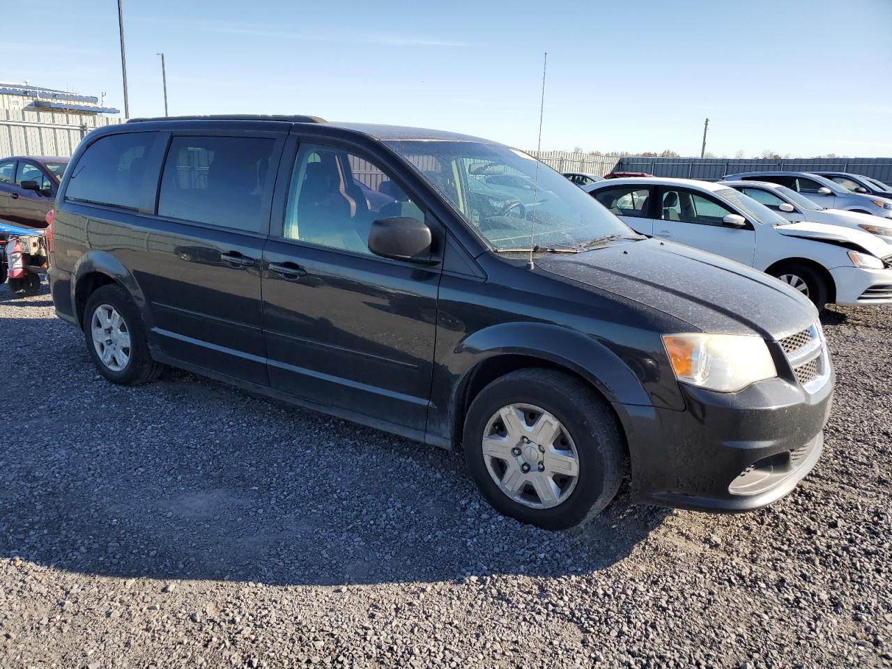
[[[120, 314], [129, 334], [128, 361], [120, 370], [111, 369], [103, 363], [93, 341], [92, 322], [95, 311], [102, 305], [109, 305]], [[90, 295], [84, 310], [84, 338], [87, 352], [93, 364], [106, 379], [113, 384], [139, 385], [161, 376], [164, 366], [156, 362], [149, 352], [145, 339], [145, 324], [136, 309], [136, 304], [123, 287], [117, 284], [103, 285]]]

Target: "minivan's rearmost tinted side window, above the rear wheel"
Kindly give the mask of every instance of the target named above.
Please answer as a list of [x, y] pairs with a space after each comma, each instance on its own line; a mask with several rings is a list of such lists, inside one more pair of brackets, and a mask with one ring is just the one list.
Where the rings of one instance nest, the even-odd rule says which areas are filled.
[[133, 132], [97, 139], [71, 173], [65, 198], [139, 209], [145, 166], [157, 135]]

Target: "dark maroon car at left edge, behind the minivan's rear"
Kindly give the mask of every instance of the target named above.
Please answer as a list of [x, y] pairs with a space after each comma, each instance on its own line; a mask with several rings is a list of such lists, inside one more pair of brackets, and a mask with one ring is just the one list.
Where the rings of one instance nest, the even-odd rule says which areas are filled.
[[0, 220], [46, 227], [68, 158], [12, 156], [0, 159]]

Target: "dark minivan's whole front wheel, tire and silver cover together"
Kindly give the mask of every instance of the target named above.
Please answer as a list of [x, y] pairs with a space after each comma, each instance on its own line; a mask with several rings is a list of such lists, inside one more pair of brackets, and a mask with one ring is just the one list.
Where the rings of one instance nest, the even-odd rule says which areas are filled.
[[467, 468], [506, 516], [547, 530], [582, 525], [622, 480], [623, 438], [588, 384], [523, 369], [483, 388], [467, 411]]

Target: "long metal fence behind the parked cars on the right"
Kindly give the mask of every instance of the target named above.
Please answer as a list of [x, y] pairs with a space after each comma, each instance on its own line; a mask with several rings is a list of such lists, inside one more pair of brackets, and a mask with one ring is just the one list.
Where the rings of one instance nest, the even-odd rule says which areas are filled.
[[694, 178], [717, 181], [726, 174], [779, 169], [808, 172], [839, 171], [863, 174], [892, 184], [892, 158], [645, 158], [642, 156], [595, 156], [568, 151], [531, 151], [542, 162], [559, 172], [586, 172], [603, 177], [615, 170], [649, 172], [657, 177]]

